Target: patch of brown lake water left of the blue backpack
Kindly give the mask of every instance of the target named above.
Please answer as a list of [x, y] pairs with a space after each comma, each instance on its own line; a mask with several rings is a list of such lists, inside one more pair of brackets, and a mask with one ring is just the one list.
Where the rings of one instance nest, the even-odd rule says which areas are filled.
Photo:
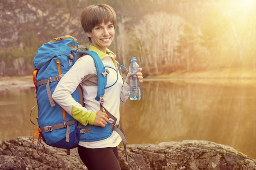
[[33, 91], [0, 91], [0, 140], [32, 136], [36, 126], [29, 121], [30, 109], [36, 104]]

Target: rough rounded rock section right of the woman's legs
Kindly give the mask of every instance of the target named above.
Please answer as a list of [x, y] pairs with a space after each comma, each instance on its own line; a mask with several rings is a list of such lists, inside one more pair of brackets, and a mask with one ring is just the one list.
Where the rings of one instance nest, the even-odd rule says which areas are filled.
[[210, 141], [129, 145], [128, 155], [119, 153], [124, 170], [256, 170], [256, 159]]

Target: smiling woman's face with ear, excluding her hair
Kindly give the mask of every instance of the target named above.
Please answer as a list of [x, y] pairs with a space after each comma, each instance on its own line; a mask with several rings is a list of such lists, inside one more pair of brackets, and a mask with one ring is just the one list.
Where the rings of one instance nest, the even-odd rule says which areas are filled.
[[111, 22], [107, 24], [102, 22], [95, 26], [91, 33], [86, 33], [86, 35], [91, 38], [93, 46], [106, 53], [107, 47], [110, 46], [115, 36], [114, 25]]

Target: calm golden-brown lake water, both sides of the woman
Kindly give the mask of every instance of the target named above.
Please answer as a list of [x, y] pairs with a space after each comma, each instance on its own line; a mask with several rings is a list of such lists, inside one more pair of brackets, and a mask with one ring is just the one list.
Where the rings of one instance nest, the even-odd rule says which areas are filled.
[[[34, 134], [35, 104], [34, 90], [0, 91], [0, 140]], [[128, 144], [207, 140], [256, 159], [256, 79], [145, 80], [120, 109]]]

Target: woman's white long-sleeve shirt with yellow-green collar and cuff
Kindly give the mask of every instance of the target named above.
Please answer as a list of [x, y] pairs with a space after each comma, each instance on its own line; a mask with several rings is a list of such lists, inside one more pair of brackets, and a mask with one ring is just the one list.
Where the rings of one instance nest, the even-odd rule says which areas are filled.
[[[107, 52], [110, 53], [108, 55], [99, 51], [94, 46], [90, 46], [89, 49], [98, 53], [104, 66], [110, 72], [107, 75], [106, 87], [111, 87], [105, 89], [103, 105], [117, 118], [116, 123], [118, 124], [120, 119], [119, 107], [128, 99], [129, 85], [126, 82], [123, 84], [123, 80], [115, 64], [115, 59], [110, 56], [111, 54], [115, 55], [112, 51], [108, 50]], [[83, 125], [93, 125], [96, 113], [100, 110], [99, 101], [95, 99], [98, 86], [96, 84], [92, 86], [90, 79], [81, 83], [84, 78], [92, 77], [93, 75], [97, 75], [94, 60], [90, 55], [85, 55], [79, 58], [72, 68], [61, 78], [52, 95], [56, 103]], [[76, 102], [71, 96], [79, 84], [83, 89], [85, 107], [79, 102]], [[111, 121], [113, 120], [110, 119]], [[121, 137], [117, 132], [113, 131], [112, 135], [107, 139], [90, 142], [79, 141], [79, 145], [86, 148], [106, 148], [116, 147], [120, 142]]]

